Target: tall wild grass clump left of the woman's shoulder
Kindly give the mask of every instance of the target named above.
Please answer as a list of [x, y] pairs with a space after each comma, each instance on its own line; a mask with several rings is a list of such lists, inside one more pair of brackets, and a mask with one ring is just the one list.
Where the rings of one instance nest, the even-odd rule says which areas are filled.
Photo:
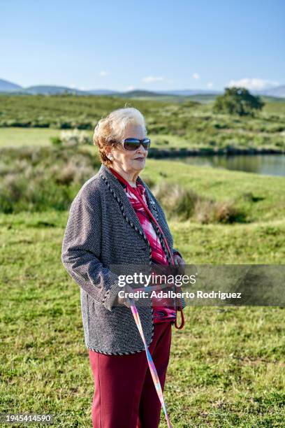
[[98, 171], [98, 157], [73, 147], [0, 150], [0, 212], [62, 211]]

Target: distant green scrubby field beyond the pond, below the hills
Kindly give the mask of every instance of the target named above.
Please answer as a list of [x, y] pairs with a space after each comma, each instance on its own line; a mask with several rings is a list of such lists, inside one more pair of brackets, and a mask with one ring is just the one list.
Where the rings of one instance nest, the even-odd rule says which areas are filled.
[[[205, 104], [189, 98], [177, 103], [119, 97], [2, 95], [0, 103], [0, 128], [92, 131], [101, 117], [127, 104], [145, 115], [149, 136], [158, 136], [154, 138], [157, 148], [285, 152], [284, 101], [266, 102], [256, 117], [216, 114], [212, 111], [213, 102]], [[0, 143], [3, 138], [0, 135]]]

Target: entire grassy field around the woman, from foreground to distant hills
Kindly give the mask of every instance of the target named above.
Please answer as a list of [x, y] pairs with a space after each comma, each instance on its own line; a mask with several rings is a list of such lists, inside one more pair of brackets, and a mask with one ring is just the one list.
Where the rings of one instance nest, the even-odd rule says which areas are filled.
[[[92, 145], [60, 152], [50, 137], [75, 124], [92, 135], [94, 121], [124, 100], [0, 99], [0, 413], [52, 413], [54, 427], [90, 427], [94, 384], [80, 290], [61, 264], [61, 243], [68, 206], [99, 161]], [[231, 144], [235, 136], [245, 146], [252, 136], [257, 146], [284, 141], [284, 102], [270, 102], [248, 120], [213, 116], [210, 102], [131, 102], [147, 115], [156, 148], [193, 146], [196, 137], [200, 146], [216, 137]], [[178, 185], [206, 202], [231, 202], [240, 213], [232, 223], [182, 220], [162, 196], [187, 264], [284, 264], [284, 178], [155, 159], [147, 159], [141, 177], [154, 192]], [[196, 306], [184, 314], [184, 329], [173, 328], [165, 387], [173, 426], [284, 427], [284, 308]]]

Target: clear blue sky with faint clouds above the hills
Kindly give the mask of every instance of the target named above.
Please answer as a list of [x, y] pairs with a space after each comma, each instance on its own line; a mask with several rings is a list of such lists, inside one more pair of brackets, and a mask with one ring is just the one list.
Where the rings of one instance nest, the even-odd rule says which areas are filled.
[[285, 84], [284, 0], [4, 0], [0, 15], [0, 78], [22, 86]]

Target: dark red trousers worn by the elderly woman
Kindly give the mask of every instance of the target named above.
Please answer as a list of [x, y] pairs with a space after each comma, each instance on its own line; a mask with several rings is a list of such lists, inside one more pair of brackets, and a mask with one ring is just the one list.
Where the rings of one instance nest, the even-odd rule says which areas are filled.
[[[171, 323], [154, 324], [149, 352], [163, 389], [171, 345]], [[139, 332], [138, 332], [139, 334]], [[161, 403], [145, 350], [131, 355], [104, 355], [89, 350], [94, 376], [93, 428], [157, 428]]]

